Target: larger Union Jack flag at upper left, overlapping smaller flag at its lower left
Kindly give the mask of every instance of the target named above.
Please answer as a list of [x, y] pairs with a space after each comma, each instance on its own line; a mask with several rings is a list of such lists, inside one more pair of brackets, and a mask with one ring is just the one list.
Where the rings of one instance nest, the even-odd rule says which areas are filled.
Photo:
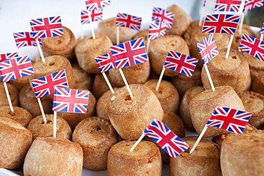
[[61, 16], [52, 16], [43, 19], [31, 19], [30, 25], [32, 31], [38, 31], [34, 38], [46, 38], [64, 35], [64, 30], [61, 24]]

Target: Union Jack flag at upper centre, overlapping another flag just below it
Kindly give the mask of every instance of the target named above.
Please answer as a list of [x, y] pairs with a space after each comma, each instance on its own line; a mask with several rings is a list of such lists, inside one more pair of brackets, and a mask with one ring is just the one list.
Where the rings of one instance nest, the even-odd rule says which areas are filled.
[[171, 11], [166, 11], [165, 9], [161, 9], [159, 7], [153, 7], [152, 11], [152, 21], [165, 21], [166, 27], [171, 29], [173, 25], [174, 14]]

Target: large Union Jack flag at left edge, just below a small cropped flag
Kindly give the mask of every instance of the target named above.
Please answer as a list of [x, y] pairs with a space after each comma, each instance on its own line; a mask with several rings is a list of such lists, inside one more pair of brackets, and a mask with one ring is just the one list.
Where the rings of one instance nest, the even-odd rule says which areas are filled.
[[3, 82], [34, 74], [29, 55], [2, 61], [0, 74]]

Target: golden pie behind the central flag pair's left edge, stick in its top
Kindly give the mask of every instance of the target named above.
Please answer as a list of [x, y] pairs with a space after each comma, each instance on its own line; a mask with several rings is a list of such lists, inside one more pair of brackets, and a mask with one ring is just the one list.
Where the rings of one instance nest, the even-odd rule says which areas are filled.
[[87, 73], [101, 73], [94, 57], [108, 53], [113, 46], [106, 34], [98, 32], [95, 36], [95, 39], [92, 35], [84, 36], [75, 47], [78, 65]]

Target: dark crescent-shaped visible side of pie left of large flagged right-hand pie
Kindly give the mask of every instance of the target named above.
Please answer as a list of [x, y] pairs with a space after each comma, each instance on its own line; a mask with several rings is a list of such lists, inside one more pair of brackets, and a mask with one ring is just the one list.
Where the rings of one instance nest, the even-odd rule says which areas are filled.
[[193, 127], [193, 123], [191, 121], [191, 114], [189, 110], [189, 103], [193, 97], [203, 92], [205, 89], [202, 86], [196, 86], [190, 88], [186, 91], [181, 99], [180, 107], [179, 107], [179, 115], [181, 120], [183, 120], [184, 126], [191, 131], [196, 131]]

